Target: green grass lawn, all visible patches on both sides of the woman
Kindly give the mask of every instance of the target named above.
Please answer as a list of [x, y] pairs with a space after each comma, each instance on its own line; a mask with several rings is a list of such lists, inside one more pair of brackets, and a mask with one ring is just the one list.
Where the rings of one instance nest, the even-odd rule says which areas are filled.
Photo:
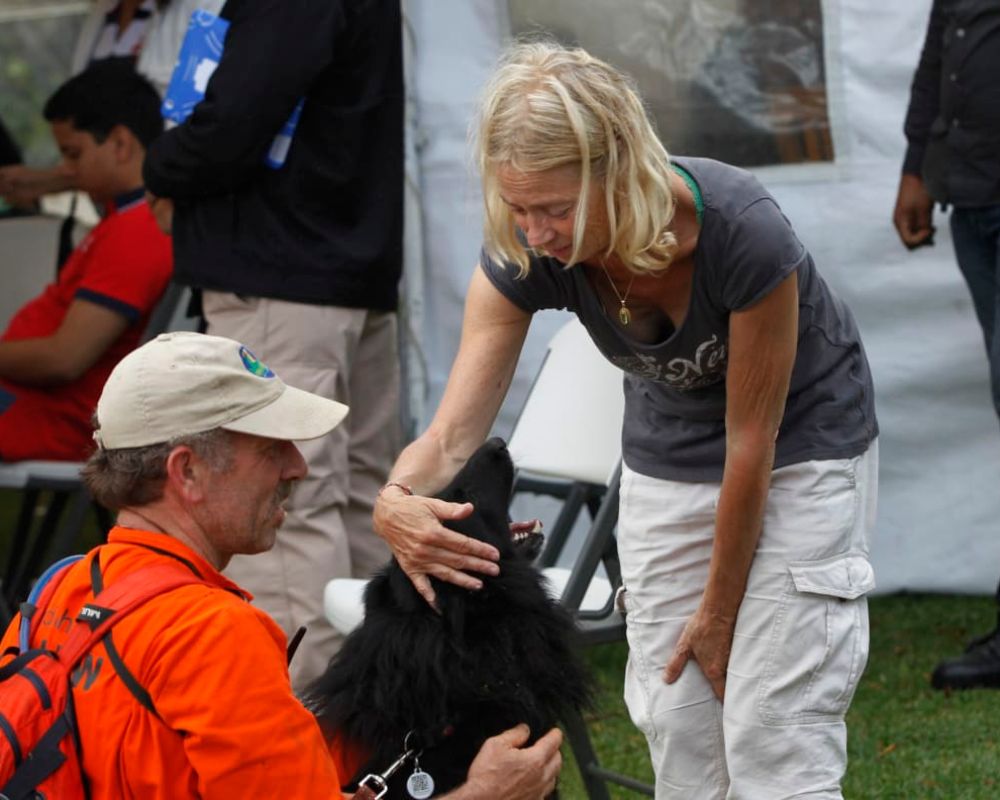
[[[0, 491], [0, 552], [6, 554], [18, 495]], [[92, 521], [91, 521], [92, 522]], [[88, 526], [86, 542], [94, 540]], [[871, 656], [848, 714], [848, 800], [995, 800], [1000, 797], [1000, 692], [944, 693], [930, 673], [968, 639], [996, 622], [990, 597], [894, 595], [870, 603]], [[624, 643], [589, 649], [598, 684], [588, 716], [601, 764], [643, 781], [652, 779], [646, 743], [633, 728], [622, 696]], [[561, 793], [585, 798], [569, 748]], [[611, 796], [641, 795], [613, 787]]]

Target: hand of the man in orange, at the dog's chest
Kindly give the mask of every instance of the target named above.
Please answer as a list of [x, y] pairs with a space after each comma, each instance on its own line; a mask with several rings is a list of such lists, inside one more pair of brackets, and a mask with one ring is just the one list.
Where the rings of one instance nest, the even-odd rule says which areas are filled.
[[562, 731], [553, 728], [531, 747], [527, 725], [487, 739], [469, 767], [469, 778], [450, 800], [540, 800], [555, 791], [562, 769]]

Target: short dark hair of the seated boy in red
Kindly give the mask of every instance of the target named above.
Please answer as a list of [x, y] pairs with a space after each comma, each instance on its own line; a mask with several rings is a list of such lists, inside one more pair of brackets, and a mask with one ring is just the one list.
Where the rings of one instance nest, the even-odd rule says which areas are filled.
[[94, 62], [56, 89], [42, 113], [49, 122], [69, 121], [98, 144], [115, 125], [124, 125], [147, 148], [163, 133], [160, 96], [129, 58]]

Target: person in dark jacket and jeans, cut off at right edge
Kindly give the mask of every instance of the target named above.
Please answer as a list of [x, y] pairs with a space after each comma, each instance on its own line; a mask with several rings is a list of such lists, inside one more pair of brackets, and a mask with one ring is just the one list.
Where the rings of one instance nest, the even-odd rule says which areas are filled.
[[[906, 114], [908, 147], [893, 222], [930, 244], [934, 203], [951, 206], [958, 266], [972, 294], [1000, 415], [1000, 3], [934, 0]], [[1000, 588], [997, 590], [1000, 599]], [[1000, 688], [1000, 626], [938, 665], [935, 688]]]

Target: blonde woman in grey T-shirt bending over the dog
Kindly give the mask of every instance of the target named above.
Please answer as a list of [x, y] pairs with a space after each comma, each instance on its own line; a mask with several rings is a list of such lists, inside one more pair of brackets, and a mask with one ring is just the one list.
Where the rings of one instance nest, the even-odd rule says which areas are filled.
[[428, 601], [430, 576], [496, 571], [441, 524], [468, 508], [427, 495], [486, 436], [532, 313], [572, 310], [625, 371], [625, 699], [657, 797], [841, 797], [877, 460], [850, 312], [751, 175], [669, 158], [631, 82], [582, 50], [512, 48], [476, 153], [461, 345], [377, 529]]

